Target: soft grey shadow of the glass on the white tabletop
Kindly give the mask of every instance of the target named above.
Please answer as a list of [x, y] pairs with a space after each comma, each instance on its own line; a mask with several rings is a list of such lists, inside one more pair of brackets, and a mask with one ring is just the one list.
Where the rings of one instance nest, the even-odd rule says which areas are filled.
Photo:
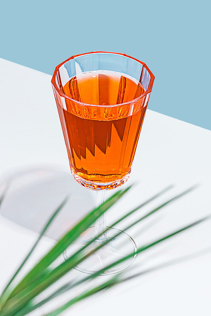
[[[21, 170], [0, 184], [4, 196], [0, 214], [39, 233], [61, 201], [70, 196], [46, 236], [57, 240], [94, 206], [93, 192], [79, 185], [70, 172], [46, 167]], [[1, 193], [1, 192], [0, 192]]]

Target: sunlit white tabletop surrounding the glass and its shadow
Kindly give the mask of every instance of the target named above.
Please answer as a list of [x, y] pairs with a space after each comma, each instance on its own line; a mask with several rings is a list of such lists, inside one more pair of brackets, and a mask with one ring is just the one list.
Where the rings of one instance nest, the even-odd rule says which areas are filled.
[[[50, 81], [51, 76], [47, 74], [0, 59], [1, 189], [5, 179], [19, 170], [48, 166], [69, 172]], [[182, 100], [178, 98], [178, 102]], [[137, 184], [115, 206], [114, 212], [109, 212], [109, 221], [121, 214], [122, 210], [143, 202], [170, 184], [174, 184], [174, 188], [142, 212], [191, 185], [199, 186], [140, 228], [131, 230], [129, 233], [138, 245], [210, 214], [210, 143], [211, 131], [147, 110], [128, 181], [128, 184], [134, 181]], [[79, 191], [82, 190], [81, 194], [85, 192], [76, 182], [74, 185]], [[14, 202], [13, 205], [15, 208]], [[144, 225], [148, 225], [149, 229]], [[210, 315], [210, 231], [209, 220], [139, 256], [134, 268], [143, 270], [176, 258], [186, 260], [181, 259], [83, 301], [64, 315], [84, 315], [85, 311], [90, 316], [120, 313], [150, 316]], [[7, 219], [5, 213], [0, 216], [0, 288], [3, 288], [36, 236], [36, 232]], [[44, 237], [37, 254], [51, 244], [52, 240]]]

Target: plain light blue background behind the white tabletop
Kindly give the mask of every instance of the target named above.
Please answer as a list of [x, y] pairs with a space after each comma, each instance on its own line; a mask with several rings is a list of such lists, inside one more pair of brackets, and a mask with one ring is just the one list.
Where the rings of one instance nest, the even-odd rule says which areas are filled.
[[151, 110], [211, 129], [208, 3], [2, 1], [0, 57], [52, 74], [75, 54], [123, 52], [156, 77]]

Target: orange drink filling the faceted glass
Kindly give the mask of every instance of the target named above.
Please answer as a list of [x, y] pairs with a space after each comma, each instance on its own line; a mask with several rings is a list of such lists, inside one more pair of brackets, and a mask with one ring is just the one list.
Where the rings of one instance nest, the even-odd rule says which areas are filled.
[[[74, 77], [63, 87], [63, 124], [71, 169], [86, 181], [109, 183], [130, 172], [146, 111], [143, 86], [113, 71], [92, 71]], [[117, 106], [112, 106], [117, 104]]]

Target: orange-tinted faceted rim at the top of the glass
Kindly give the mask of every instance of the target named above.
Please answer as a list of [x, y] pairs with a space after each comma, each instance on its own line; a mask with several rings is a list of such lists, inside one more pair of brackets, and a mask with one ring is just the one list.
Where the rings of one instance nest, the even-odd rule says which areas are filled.
[[[99, 104], [89, 104], [89, 103], [84, 103], [84, 102], [80, 102], [80, 101], [77, 101], [77, 100], [74, 100], [70, 97], [68, 97], [66, 94], [64, 94], [57, 86], [56, 84], [56, 74], [57, 74], [57, 71], [60, 69], [60, 67], [67, 63], [69, 60], [71, 59], [74, 59], [76, 57], [79, 57], [79, 56], [83, 56], [83, 55], [88, 55], [88, 54], [98, 54], [98, 53], [103, 53], [103, 54], [116, 54], [116, 55], [121, 55], [121, 56], [125, 56], [127, 58], [131, 58], [133, 60], [136, 60], [138, 63], [142, 64], [142, 66], [144, 66], [144, 68], [149, 72], [149, 75], [150, 75], [150, 84], [149, 84], [149, 87], [148, 89], [143, 93], [141, 94], [139, 97], [137, 97], [136, 99], [133, 99], [133, 100], [130, 100], [130, 101], [127, 101], [127, 102], [124, 102], [124, 103], [119, 103], [119, 104], [113, 104], [113, 105], [106, 105], [106, 106], [101, 106]], [[142, 99], [143, 97], [145, 97], [147, 94], [149, 94], [151, 91], [152, 91], [152, 86], [153, 86], [153, 82], [154, 82], [154, 79], [155, 79], [155, 76], [153, 75], [153, 73], [151, 72], [151, 70], [147, 67], [147, 65], [136, 59], [136, 58], [133, 58], [129, 55], [126, 55], [126, 54], [122, 54], [122, 53], [115, 53], [115, 52], [100, 52], [100, 51], [96, 51], [96, 52], [88, 52], [88, 53], [83, 53], [83, 54], [78, 54], [78, 55], [73, 55], [71, 56], [70, 58], [66, 59], [65, 61], [63, 61], [61, 64], [57, 65], [55, 70], [54, 70], [54, 74], [52, 76], [52, 79], [51, 79], [51, 83], [52, 85], [54, 86], [54, 88], [56, 89], [56, 91], [58, 92], [58, 94], [65, 98], [65, 99], [68, 99], [70, 101], [73, 101], [79, 105], [82, 105], [82, 106], [96, 106], [96, 107], [114, 107], [114, 106], [120, 106], [120, 105], [126, 105], [126, 104], [131, 104], [131, 103], [135, 103], [137, 102], [138, 100]]]

